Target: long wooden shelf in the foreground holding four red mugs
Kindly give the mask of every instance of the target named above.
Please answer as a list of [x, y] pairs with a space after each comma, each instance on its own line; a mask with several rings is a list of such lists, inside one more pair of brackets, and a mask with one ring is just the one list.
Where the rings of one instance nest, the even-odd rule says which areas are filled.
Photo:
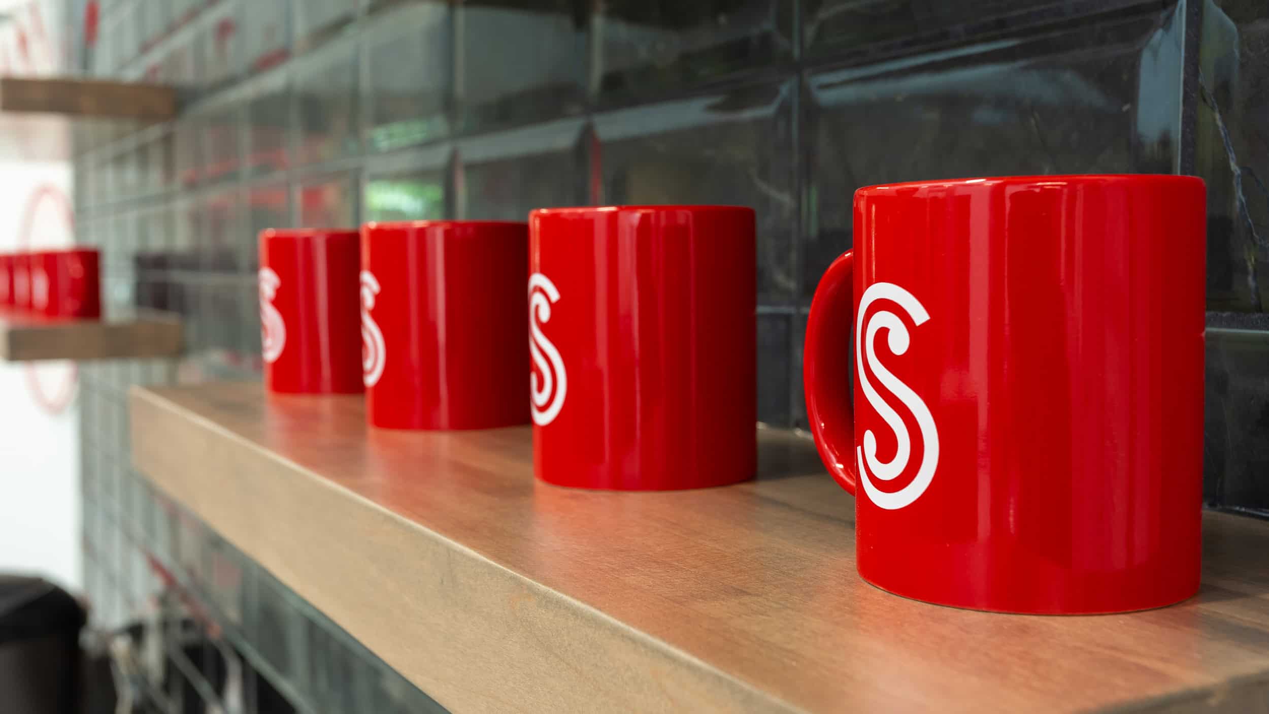
[[358, 396], [131, 395], [136, 466], [453, 711], [1249, 711], [1269, 692], [1269, 523], [1204, 516], [1204, 583], [1131, 615], [881, 592], [801, 437], [759, 480], [536, 483], [529, 429], [369, 429]]

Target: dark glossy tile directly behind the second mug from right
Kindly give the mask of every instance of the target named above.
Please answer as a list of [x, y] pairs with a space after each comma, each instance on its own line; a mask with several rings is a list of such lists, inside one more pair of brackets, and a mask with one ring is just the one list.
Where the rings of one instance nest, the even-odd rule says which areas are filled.
[[789, 300], [797, 225], [793, 84], [595, 117], [596, 203], [726, 203], [758, 213], [758, 302]]

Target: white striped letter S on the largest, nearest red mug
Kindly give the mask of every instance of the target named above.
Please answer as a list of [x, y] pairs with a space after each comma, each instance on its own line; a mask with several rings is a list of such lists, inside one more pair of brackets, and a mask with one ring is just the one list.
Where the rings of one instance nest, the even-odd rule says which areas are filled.
[[[868, 306], [877, 300], [895, 302], [907, 313], [915, 325], [924, 324], [930, 319], [930, 315], [911, 292], [888, 282], [878, 282], [869, 286], [864, 291], [863, 297], [860, 297], [859, 310], [855, 314], [855, 374], [859, 375], [859, 386], [863, 389], [868, 404], [872, 405], [877, 414], [895, 432], [895, 441], [897, 442], [895, 457], [891, 461], [881, 461], [877, 459], [877, 437], [872, 431], [864, 432], [863, 445], [855, 447], [855, 464], [859, 468], [859, 482], [863, 484], [868, 498], [878, 507], [893, 511], [912, 503], [929, 488], [930, 480], [934, 479], [934, 470], [939, 464], [939, 433], [934, 424], [934, 417], [930, 415], [925, 401], [877, 360], [876, 335], [882, 328], [888, 332], [886, 343], [895, 354], [907, 352], [911, 339], [907, 333], [907, 325], [904, 324], [904, 320], [898, 315], [890, 310], [878, 310], [868, 318], [865, 334], [864, 316], [868, 315]], [[877, 389], [868, 380], [868, 370], [864, 370], [865, 354], [868, 368], [877, 375], [877, 381], [912, 413], [912, 418], [916, 419], [916, 426], [921, 431], [921, 442], [925, 446], [916, 476], [912, 478], [911, 483], [896, 492], [879, 490], [873, 485], [868, 473], [871, 470], [873, 476], [883, 482], [895, 479], [904, 473], [911, 456], [911, 437], [907, 433], [907, 427], [904, 426], [904, 419], [882, 399], [881, 394], [877, 393]]]

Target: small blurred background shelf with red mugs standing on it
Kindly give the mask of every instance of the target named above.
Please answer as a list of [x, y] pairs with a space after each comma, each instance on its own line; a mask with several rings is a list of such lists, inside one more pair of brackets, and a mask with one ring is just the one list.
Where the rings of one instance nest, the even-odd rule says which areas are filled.
[[49, 320], [0, 314], [0, 360], [113, 360], [171, 357], [181, 349], [180, 319], [137, 313], [100, 320]]

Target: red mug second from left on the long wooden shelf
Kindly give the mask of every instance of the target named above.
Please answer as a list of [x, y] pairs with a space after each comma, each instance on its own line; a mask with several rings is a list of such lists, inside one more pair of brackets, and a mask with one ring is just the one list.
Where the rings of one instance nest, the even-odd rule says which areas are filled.
[[528, 423], [528, 264], [522, 222], [362, 226], [362, 367], [372, 426]]

